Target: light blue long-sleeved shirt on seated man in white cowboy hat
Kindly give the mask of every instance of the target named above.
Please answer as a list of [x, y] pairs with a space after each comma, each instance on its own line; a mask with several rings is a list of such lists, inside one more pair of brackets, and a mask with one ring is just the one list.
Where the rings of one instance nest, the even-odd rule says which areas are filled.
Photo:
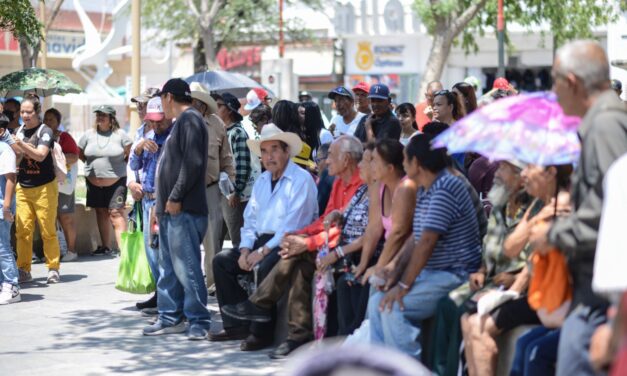
[[244, 210], [240, 248], [252, 249], [257, 236], [274, 234], [265, 245], [278, 247], [286, 232], [299, 230], [318, 218], [316, 183], [309, 172], [291, 160], [272, 190], [272, 174], [255, 181]]

